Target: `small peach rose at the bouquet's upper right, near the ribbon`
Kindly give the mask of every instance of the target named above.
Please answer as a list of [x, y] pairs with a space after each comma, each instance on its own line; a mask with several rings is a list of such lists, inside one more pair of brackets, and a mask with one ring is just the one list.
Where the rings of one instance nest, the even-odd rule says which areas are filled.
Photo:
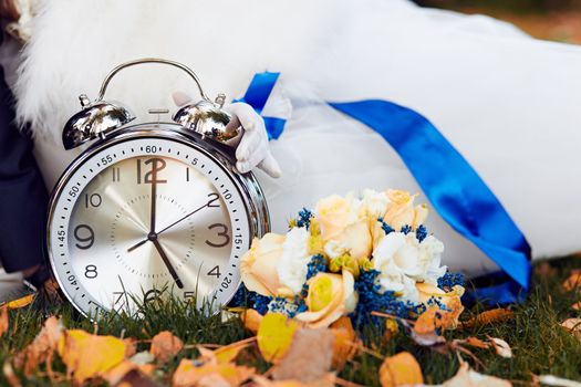
[[390, 203], [383, 217], [384, 221], [390, 224], [395, 231], [400, 231], [402, 227], [408, 224], [412, 229], [416, 229], [422, 224], [427, 217], [427, 208], [425, 205], [414, 207], [414, 198], [417, 195], [409, 195], [409, 192], [401, 190], [387, 190]]

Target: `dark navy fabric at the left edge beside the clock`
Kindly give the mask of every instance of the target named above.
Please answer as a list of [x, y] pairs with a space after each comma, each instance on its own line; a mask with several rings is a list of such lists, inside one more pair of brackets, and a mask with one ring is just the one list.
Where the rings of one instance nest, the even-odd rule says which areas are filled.
[[0, 261], [7, 272], [44, 261], [48, 201], [32, 140], [14, 124], [13, 97], [0, 67]]

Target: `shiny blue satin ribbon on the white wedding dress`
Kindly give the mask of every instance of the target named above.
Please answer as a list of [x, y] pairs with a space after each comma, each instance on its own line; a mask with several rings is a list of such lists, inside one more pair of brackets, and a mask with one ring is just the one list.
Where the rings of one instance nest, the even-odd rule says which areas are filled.
[[[261, 114], [279, 75], [256, 74], [241, 101]], [[421, 114], [387, 101], [329, 105], [380, 134], [397, 151], [442, 218], [510, 279], [476, 289], [470, 296], [491, 303], [522, 300], [530, 283], [530, 245], [492, 191], [438, 129]], [[284, 121], [264, 121], [270, 137], [278, 138]]]

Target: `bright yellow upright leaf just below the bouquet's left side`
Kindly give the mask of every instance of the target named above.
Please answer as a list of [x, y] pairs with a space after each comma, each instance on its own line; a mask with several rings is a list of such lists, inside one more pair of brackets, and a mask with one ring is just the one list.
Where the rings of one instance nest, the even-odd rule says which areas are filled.
[[268, 313], [262, 317], [257, 333], [258, 348], [262, 357], [267, 362], [279, 363], [289, 351], [297, 330], [299, 324], [283, 314]]

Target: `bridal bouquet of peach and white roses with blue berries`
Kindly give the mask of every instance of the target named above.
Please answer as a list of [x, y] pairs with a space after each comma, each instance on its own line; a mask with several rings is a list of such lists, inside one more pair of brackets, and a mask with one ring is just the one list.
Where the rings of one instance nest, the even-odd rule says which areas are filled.
[[413, 320], [454, 311], [457, 320], [463, 278], [440, 264], [444, 244], [423, 226], [428, 210], [414, 198], [364, 190], [303, 209], [286, 236], [256, 239], [242, 257], [238, 302], [313, 328], [343, 316], [359, 328], [380, 324], [372, 312]]

